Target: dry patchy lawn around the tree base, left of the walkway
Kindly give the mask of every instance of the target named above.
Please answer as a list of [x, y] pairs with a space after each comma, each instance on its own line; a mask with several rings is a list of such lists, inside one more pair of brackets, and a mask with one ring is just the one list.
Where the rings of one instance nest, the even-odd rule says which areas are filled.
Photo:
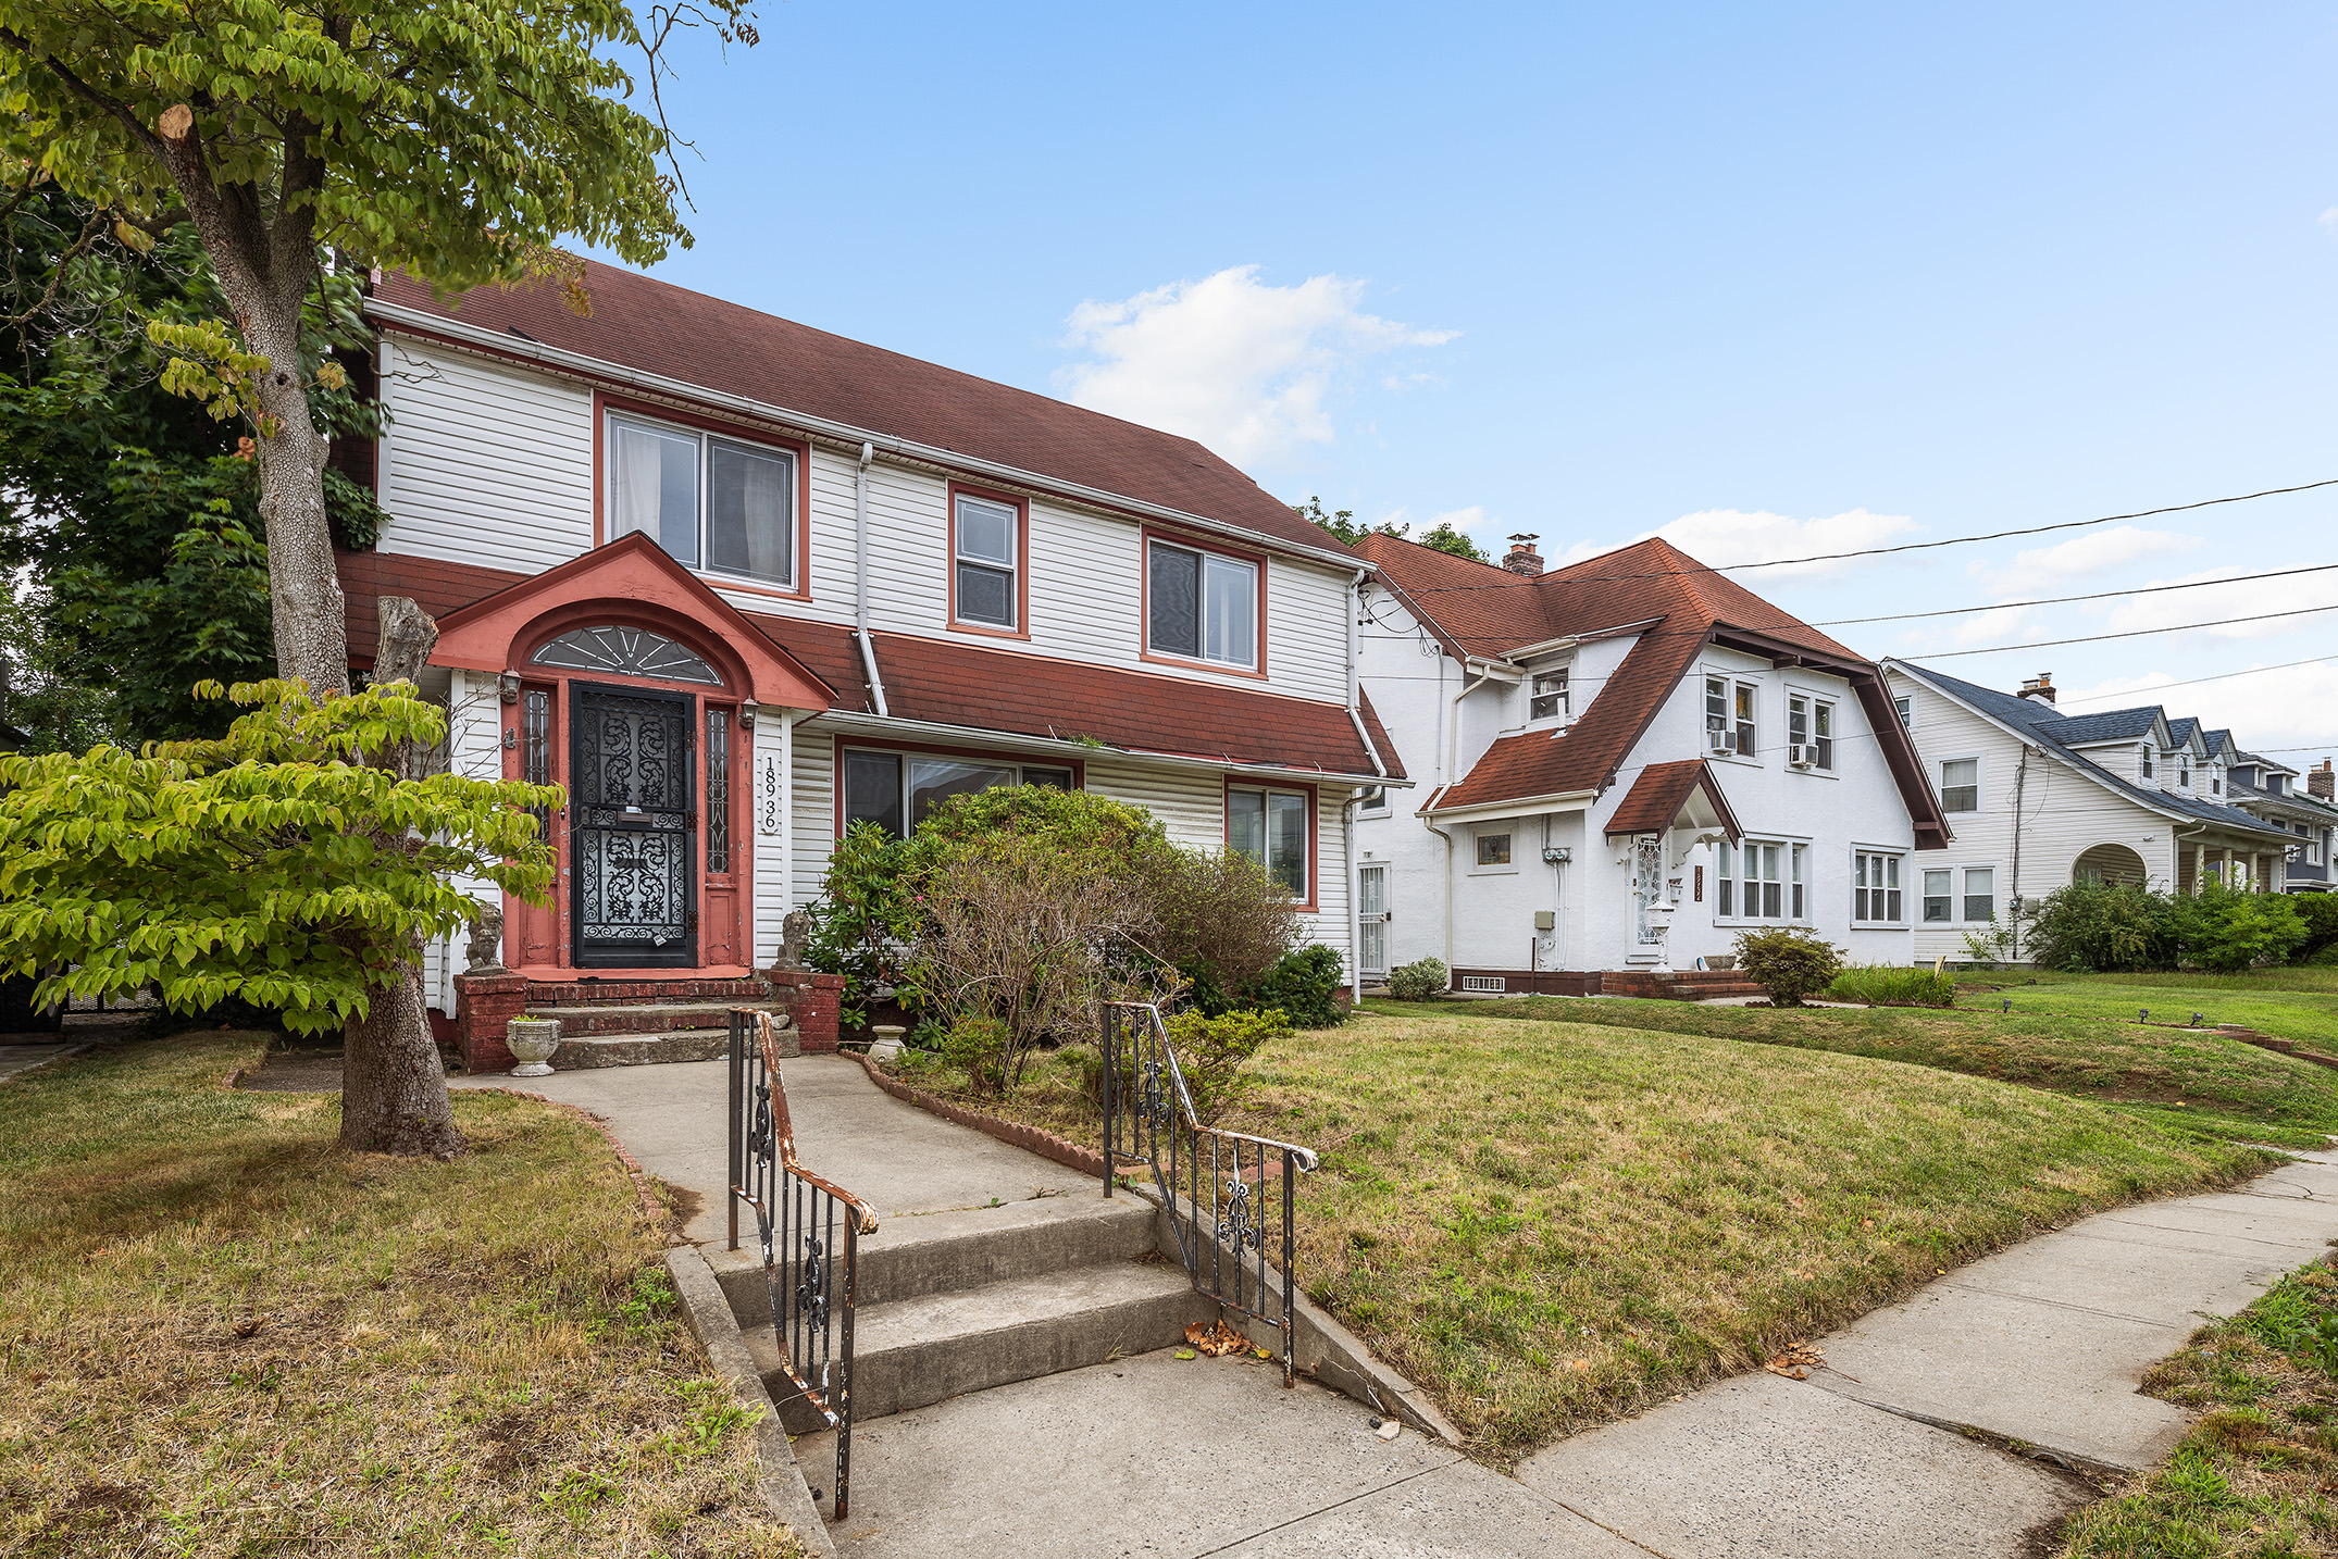
[[608, 1141], [458, 1094], [451, 1164], [196, 1033], [0, 1085], [0, 1552], [800, 1554]]

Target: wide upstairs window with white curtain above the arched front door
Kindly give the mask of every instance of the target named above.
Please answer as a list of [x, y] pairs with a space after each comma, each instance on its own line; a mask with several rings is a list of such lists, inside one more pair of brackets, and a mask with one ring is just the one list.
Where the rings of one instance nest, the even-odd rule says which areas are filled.
[[645, 531], [676, 563], [795, 589], [793, 449], [610, 414], [608, 535]]

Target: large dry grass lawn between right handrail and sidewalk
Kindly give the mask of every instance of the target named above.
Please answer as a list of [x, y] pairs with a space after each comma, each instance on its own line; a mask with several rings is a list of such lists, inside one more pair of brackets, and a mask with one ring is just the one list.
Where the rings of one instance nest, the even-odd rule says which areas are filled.
[[[1080, 1061], [1043, 1059], [1005, 1108], [1092, 1141]], [[1459, 1003], [1295, 1033], [1251, 1070], [1227, 1124], [1323, 1155], [1302, 1283], [1496, 1463], [2046, 1225], [2270, 1162], [1922, 1066]]]

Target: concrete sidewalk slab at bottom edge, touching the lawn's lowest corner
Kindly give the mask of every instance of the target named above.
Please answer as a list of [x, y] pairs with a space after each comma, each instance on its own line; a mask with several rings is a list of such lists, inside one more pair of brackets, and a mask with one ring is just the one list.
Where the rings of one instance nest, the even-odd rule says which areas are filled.
[[1562, 1440], [1517, 1477], [1665, 1559], [2006, 1559], [2093, 1494], [1775, 1374]]

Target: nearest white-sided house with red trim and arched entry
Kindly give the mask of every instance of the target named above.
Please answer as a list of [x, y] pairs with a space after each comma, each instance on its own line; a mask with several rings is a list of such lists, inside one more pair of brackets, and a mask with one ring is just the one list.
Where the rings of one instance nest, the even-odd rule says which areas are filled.
[[[1363, 566], [1190, 439], [587, 264], [376, 276], [388, 524], [341, 552], [440, 622], [465, 774], [552, 781], [535, 982], [741, 979], [853, 823], [984, 785], [1139, 802], [1265, 860], [1351, 954], [1349, 802], [1403, 788], [1354, 666]], [[454, 1014], [435, 944], [428, 1000]]]

